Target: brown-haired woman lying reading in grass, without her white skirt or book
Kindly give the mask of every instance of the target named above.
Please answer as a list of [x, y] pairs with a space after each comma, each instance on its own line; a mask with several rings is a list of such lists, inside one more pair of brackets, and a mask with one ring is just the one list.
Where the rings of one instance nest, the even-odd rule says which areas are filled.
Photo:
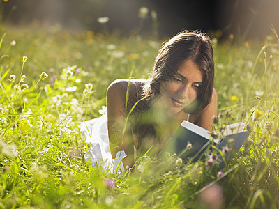
[[107, 88], [107, 127], [112, 157], [124, 150], [123, 163], [151, 148], [158, 155], [183, 120], [214, 130], [217, 93], [213, 88], [211, 41], [184, 31], [166, 42], [150, 79], [118, 79]]

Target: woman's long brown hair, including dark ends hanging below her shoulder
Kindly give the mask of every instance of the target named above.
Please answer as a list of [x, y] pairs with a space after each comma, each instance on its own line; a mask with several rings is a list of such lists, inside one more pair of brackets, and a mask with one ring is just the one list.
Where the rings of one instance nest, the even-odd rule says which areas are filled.
[[[211, 40], [200, 31], [183, 31], [165, 42], [160, 49], [151, 77], [143, 86], [142, 96], [146, 99], [139, 103], [142, 111], [147, 110], [145, 112], [148, 112], [153, 101], [160, 95], [160, 84], [172, 79], [179, 69], [179, 65], [188, 59], [193, 60], [199, 66], [199, 69], [202, 71], [203, 81], [201, 91], [196, 100], [183, 109], [183, 111], [188, 114], [198, 113], [209, 104], [214, 83], [214, 61]], [[144, 118], [146, 119], [146, 117]], [[149, 117], [147, 116], [147, 118]], [[151, 143], [149, 140], [153, 141], [155, 139], [160, 141], [162, 136], [156, 131], [157, 128], [158, 123], [150, 120], [147, 123], [143, 120], [135, 123], [133, 132], [139, 141], [138, 149], [146, 150], [148, 148], [146, 145]], [[146, 141], [146, 138], [149, 139]]]

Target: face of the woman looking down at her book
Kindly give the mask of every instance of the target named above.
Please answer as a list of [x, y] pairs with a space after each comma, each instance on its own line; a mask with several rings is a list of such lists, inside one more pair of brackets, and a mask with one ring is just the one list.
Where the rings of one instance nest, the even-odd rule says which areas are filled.
[[202, 71], [193, 60], [185, 60], [174, 77], [160, 85], [160, 102], [167, 111], [179, 113], [197, 98], [201, 87]]

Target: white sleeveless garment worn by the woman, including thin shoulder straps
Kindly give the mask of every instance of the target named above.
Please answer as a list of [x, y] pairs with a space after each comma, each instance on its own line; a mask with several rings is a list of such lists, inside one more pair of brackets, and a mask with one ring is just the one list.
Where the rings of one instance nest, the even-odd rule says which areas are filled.
[[[132, 84], [135, 84], [137, 89], [137, 84], [134, 81]], [[140, 99], [138, 89], [137, 99]], [[187, 116], [187, 121], [189, 118], [190, 114]], [[89, 145], [89, 150], [84, 155], [86, 162], [93, 166], [98, 165], [105, 173], [113, 173], [114, 171], [123, 173], [125, 171], [122, 163], [123, 158], [126, 157], [125, 151], [119, 151], [116, 153], [115, 159], [112, 158], [106, 112], [98, 118], [80, 123], [80, 131], [84, 134], [86, 143]]]

